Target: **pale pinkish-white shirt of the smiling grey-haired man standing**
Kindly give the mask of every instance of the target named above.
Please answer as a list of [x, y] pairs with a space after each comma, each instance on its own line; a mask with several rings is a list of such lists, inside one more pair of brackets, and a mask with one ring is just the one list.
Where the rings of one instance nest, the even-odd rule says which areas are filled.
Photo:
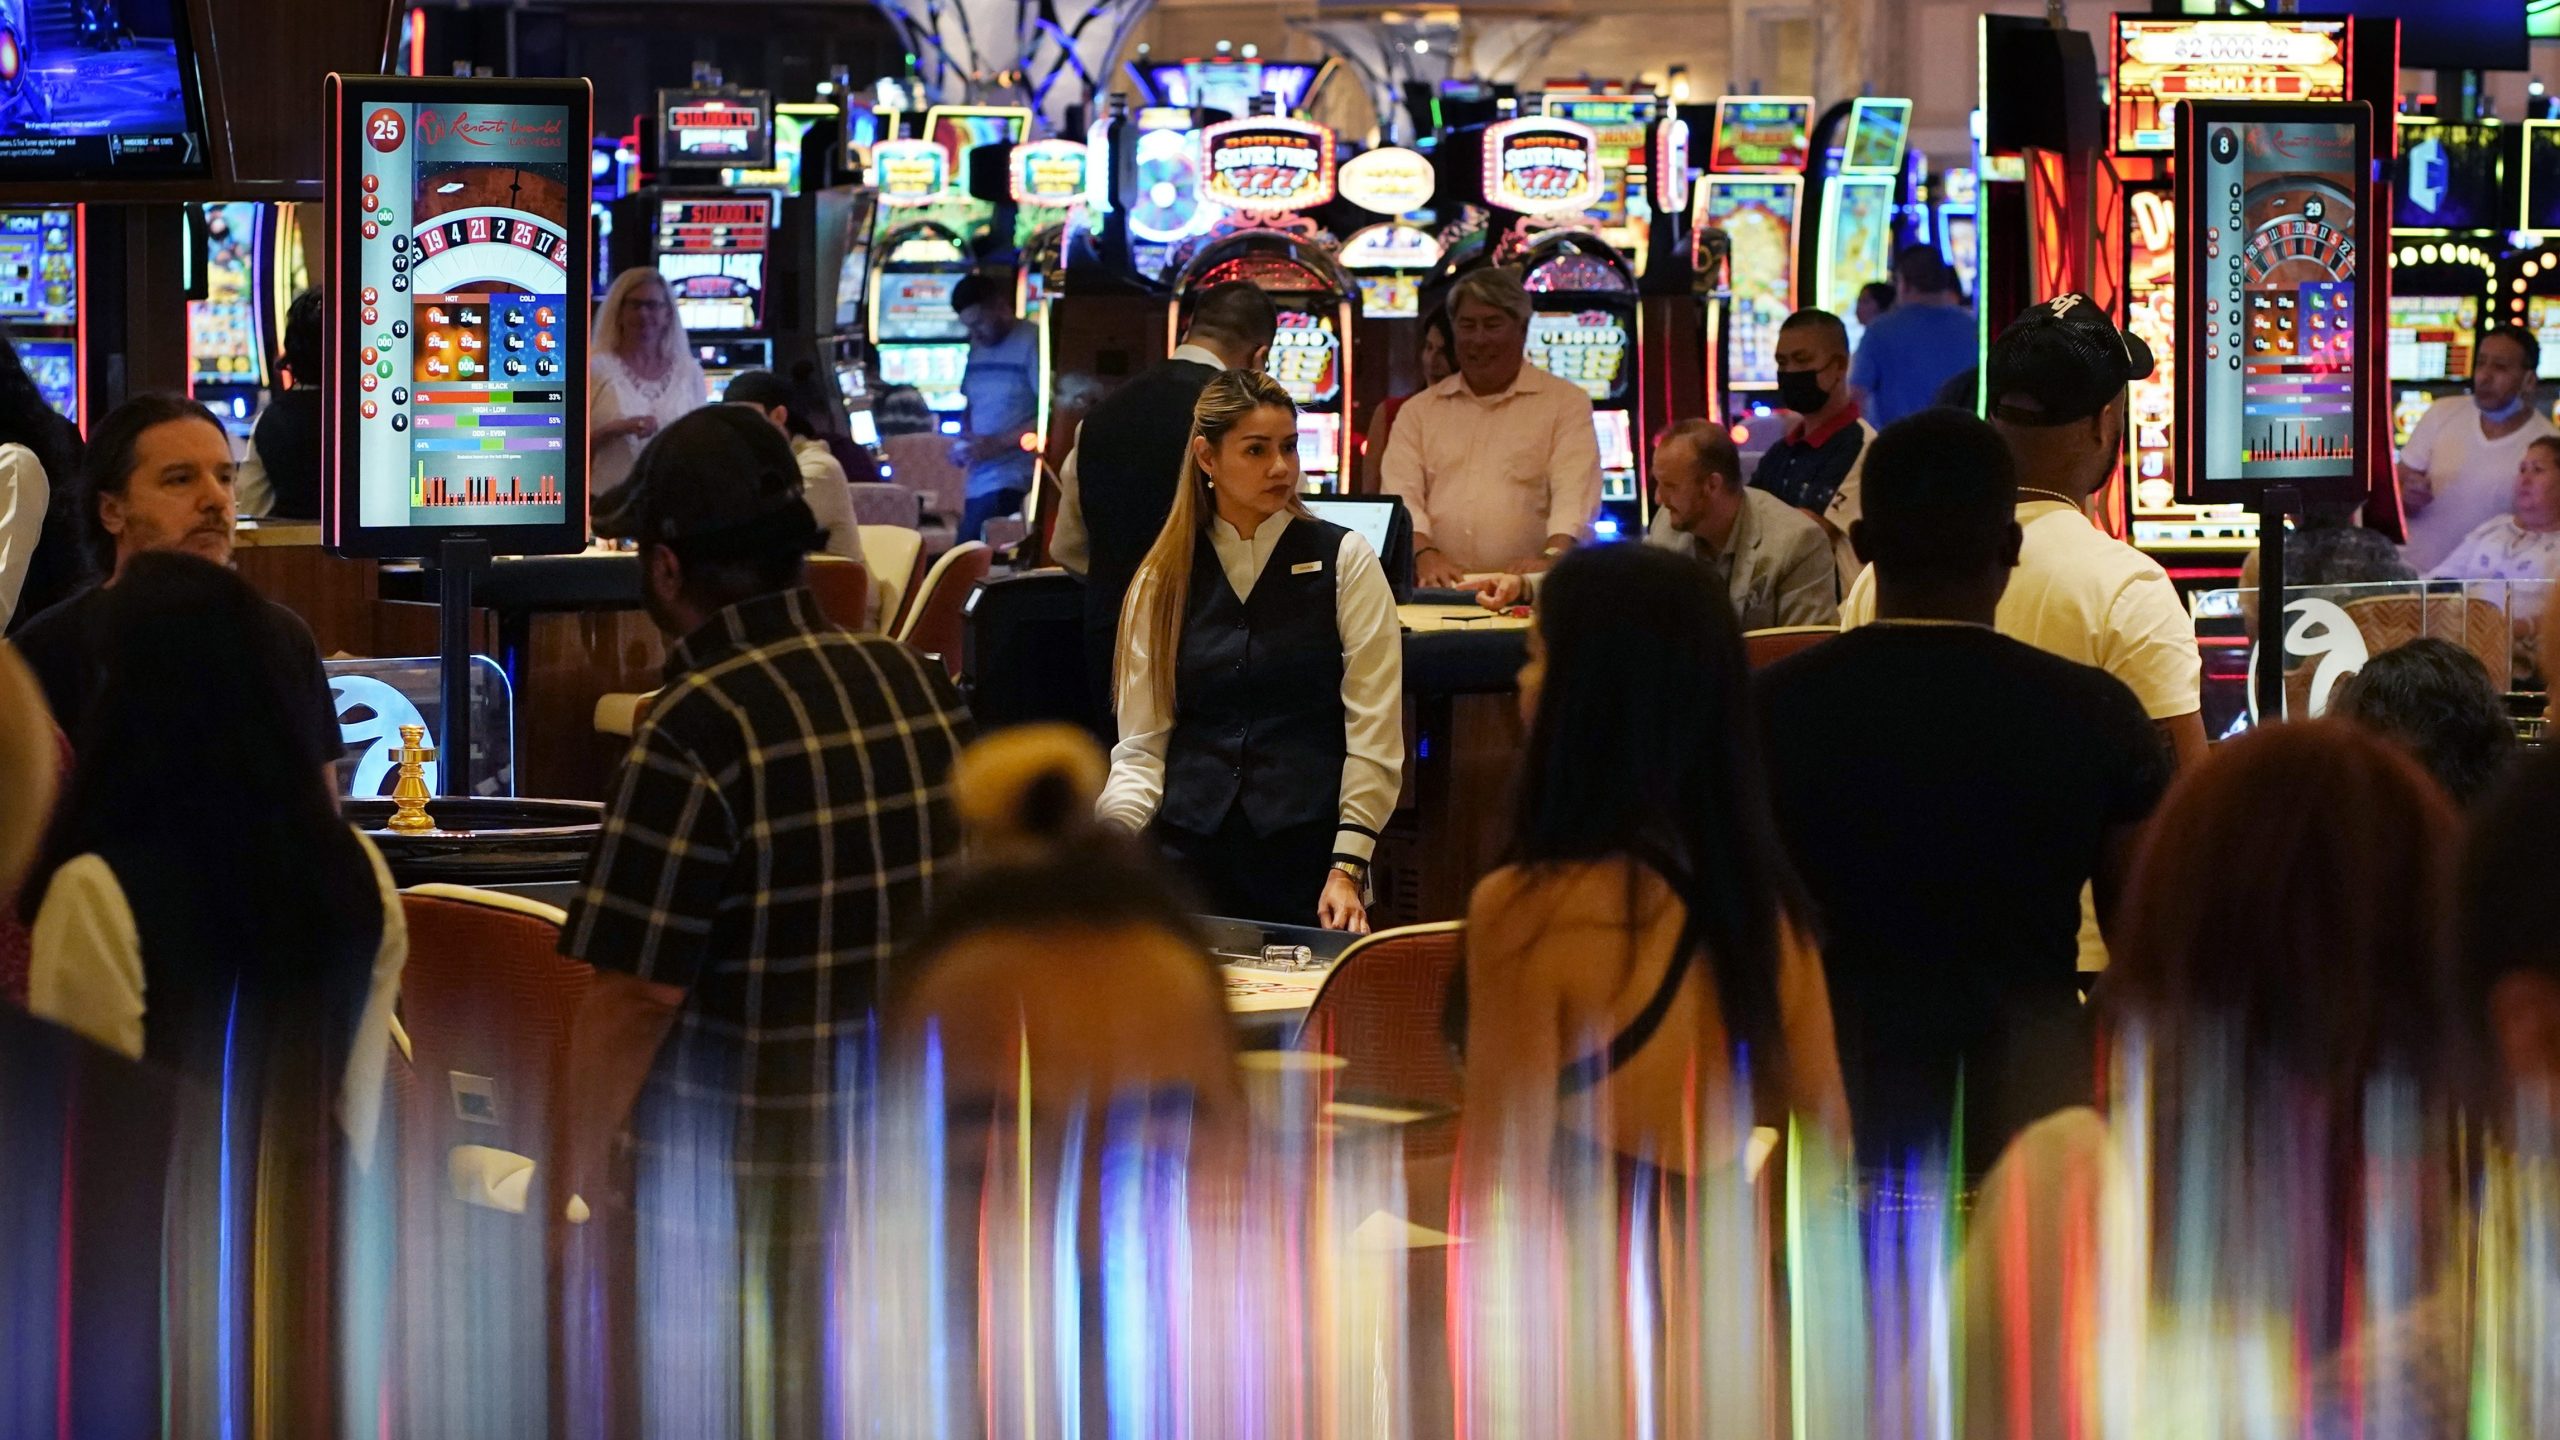
[[1600, 512], [1592, 397], [1533, 364], [1495, 395], [1452, 374], [1395, 413], [1377, 484], [1469, 574], [1510, 569], [1549, 536], [1587, 541]]

